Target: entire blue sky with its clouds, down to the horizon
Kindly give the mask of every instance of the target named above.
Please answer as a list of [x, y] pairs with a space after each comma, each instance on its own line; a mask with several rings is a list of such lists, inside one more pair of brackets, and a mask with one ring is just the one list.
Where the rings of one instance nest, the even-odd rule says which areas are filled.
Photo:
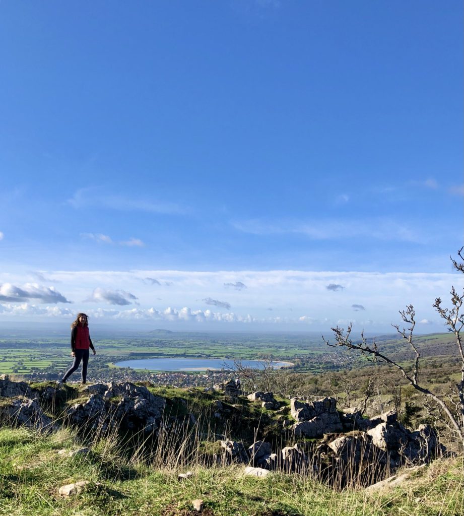
[[3, 1], [0, 324], [439, 329], [462, 10]]

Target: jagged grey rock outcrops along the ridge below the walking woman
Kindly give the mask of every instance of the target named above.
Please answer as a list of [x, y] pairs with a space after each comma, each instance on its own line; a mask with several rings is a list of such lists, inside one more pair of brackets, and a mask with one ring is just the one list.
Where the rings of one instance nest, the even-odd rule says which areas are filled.
[[[216, 392], [223, 393], [222, 402], [216, 399], [211, 403], [215, 421], [227, 420], [239, 401], [259, 404], [260, 410], [271, 413], [271, 417], [275, 415], [281, 437], [245, 445], [232, 436], [224, 436], [216, 441], [210, 462], [243, 463], [268, 471], [326, 470], [327, 475], [334, 470], [355, 467], [363, 472], [378, 470], [373, 477], [373, 481], [377, 481], [381, 470], [392, 472], [402, 465], [424, 464], [444, 452], [433, 428], [421, 425], [410, 431], [397, 421], [395, 412], [366, 420], [360, 412], [337, 410], [333, 398], [312, 402], [293, 398], [289, 408], [277, 401], [273, 393], [255, 392], [245, 397], [232, 381], [215, 388]], [[49, 407], [62, 390], [50, 385], [33, 389], [26, 382], [0, 378], [1, 421], [12, 426], [54, 431], [58, 425], [42, 406]], [[179, 396], [182, 401], [182, 392]], [[235, 405], [228, 405], [231, 401]], [[165, 408], [166, 399], [151, 393], [147, 386], [130, 382], [99, 383], [80, 390], [79, 398], [66, 405], [61, 424], [77, 429], [119, 428], [126, 434], [141, 431], [156, 436], [159, 428], [166, 424]], [[289, 411], [292, 419], [285, 415]], [[187, 427], [194, 427], [199, 417], [201, 414], [188, 414], [182, 421]], [[232, 426], [230, 431], [233, 432]]]

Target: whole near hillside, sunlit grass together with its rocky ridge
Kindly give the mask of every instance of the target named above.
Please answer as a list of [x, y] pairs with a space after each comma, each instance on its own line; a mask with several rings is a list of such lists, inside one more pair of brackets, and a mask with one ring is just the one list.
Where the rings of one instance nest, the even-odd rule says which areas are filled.
[[216, 516], [464, 509], [462, 459], [430, 428], [408, 431], [394, 412], [366, 420], [333, 398], [4, 378], [0, 413], [2, 515], [180, 516], [198, 514], [195, 499]]

